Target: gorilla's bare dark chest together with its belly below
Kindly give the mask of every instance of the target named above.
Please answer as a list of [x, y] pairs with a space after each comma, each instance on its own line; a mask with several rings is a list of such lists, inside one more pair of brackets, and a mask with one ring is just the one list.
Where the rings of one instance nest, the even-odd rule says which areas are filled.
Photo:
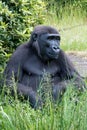
[[44, 64], [36, 58], [31, 58], [27, 63], [25, 63], [22, 83], [32, 86], [35, 89], [39, 86], [44, 74], [49, 74], [51, 79], [55, 80], [58, 72], [59, 68], [55, 62]]

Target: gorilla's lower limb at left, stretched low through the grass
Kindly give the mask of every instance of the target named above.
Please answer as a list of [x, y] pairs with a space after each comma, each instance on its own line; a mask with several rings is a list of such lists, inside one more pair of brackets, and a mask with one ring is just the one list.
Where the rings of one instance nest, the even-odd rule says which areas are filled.
[[37, 92], [32, 89], [32, 87], [21, 83], [14, 83], [12, 80], [6, 80], [5, 84], [8, 86], [13, 96], [15, 95], [16, 90], [19, 98], [23, 95], [25, 99], [29, 99], [32, 108], [36, 109], [42, 106], [41, 98], [38, 96]]

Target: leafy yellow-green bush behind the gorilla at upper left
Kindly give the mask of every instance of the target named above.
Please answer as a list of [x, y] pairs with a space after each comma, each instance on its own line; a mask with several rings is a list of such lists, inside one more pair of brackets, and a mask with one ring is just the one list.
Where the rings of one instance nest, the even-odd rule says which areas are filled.
[[0, 1], [1, 66], [20, 43], [29, 39], [33, 27], [44, 22], [44, 10], [41, 0]]

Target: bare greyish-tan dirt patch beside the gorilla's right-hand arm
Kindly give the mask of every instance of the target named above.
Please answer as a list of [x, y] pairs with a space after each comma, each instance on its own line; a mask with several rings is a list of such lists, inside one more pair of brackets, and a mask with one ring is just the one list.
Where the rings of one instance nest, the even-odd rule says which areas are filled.
[[67, 52], [81, 76], [87, 77], [87, 52]]

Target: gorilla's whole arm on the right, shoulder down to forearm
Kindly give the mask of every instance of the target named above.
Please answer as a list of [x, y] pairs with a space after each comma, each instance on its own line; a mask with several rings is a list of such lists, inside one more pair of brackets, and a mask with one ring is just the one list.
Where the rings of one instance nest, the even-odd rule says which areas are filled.
[[67, 87], [70, 85], [75, 86], [75, 88], [81, 92], [86, 89], [85, 82], [79, 73], [75, 70], [73, 64], [70, 62], [67, 55], [63, 51], [60, 51], [57, 64], [60, 68], [58, 76], [61, 80], [54, 83], [52, 91], [54, 100], [61, 99]]

